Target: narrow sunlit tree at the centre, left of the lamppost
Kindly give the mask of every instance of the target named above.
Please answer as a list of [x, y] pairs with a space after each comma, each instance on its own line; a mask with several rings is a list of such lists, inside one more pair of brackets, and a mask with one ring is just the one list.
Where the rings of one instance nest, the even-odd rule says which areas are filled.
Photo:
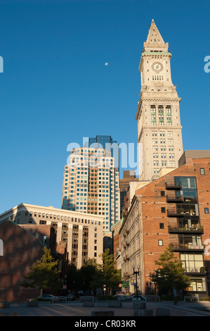
[[119, 282], [122, 281], [121, 270], [114, 268], [116, 263], [114, 262], [113, 254], [110, 254], [110, 249], [106, 249], [100, 256], [102, 257], [103, 264], [98, 265], [91, 285], [95, 288], [105, 285], [107, 294], [110, 294], [112, 289], [118, 289]]

